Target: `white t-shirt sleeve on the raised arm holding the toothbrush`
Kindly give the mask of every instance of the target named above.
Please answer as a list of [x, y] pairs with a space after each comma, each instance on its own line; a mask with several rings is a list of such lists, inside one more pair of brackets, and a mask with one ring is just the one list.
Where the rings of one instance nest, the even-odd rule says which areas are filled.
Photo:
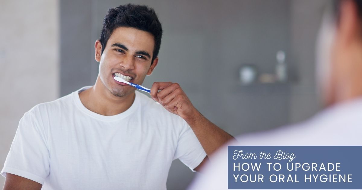
[[206, 152], [202, 148], [191, 127], [183, 121], [183, 128], [178, 138], [177, 148], [173, 159], [180, 159], [193, 172], [195, 168], [206, 157]]

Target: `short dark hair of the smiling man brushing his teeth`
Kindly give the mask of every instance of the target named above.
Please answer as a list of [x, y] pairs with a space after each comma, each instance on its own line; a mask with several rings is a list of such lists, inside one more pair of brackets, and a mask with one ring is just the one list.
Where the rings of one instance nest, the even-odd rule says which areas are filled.
[[152, 62], [156, 59], [161, 46], [162, 26], [157, 18], [155, 10], [146, 5], [126, 4], [119, 5], [116, 8], [110, 8], [103, 20], [103, 28], [99, 41], [104, 48], [113, 30], [118, 27], [131, 27], [147, 31], [155, 38], [155, 47], [153, 48]]

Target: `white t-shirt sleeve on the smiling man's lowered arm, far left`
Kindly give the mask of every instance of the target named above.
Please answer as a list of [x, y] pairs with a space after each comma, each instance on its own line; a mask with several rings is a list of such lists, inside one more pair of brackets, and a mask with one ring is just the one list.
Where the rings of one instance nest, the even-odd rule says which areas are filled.
[[32, 109], [20, 119], [1, 175], [11, 173], [43, 184], [49, 175], [49, 163], [46, 131]]

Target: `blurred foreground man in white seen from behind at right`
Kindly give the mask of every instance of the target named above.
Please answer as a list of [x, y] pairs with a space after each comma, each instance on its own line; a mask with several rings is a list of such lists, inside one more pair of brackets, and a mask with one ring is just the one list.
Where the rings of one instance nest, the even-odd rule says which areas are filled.
[[[362, 0], [335, 4], [334, 16], [324, 15], [317, 45], [326, 109], [307, 122], [240, 136], [230, 145], [362, 145]], [[227, 147], [212, 158], [190, 190], [227, 189]]]

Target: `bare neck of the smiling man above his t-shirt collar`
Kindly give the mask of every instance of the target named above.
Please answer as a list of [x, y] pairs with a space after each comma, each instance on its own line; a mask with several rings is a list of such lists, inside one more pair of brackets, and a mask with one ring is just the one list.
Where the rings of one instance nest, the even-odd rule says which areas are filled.
[[111, 116], [122, 113], [131, 107], [135, 100], [135, 92], [117, 97], [100, 82], [98, 78], [94, 86], [79, 93], [80, 101], [87, 109], [97, 114]]

